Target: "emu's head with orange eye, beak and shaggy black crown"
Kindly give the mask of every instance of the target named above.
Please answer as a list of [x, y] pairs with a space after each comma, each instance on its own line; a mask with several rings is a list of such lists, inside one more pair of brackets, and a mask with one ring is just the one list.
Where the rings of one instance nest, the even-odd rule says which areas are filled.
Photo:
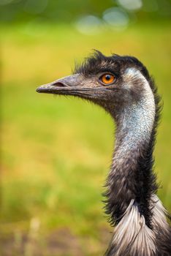
[[104, 56], [96, 50], [73, 75], [42, 85], [37, 91], [88, 99], [117, 118], [119, 112], [140, 102], [148, 82], [152, 83], [148, 71], [136, 58]]

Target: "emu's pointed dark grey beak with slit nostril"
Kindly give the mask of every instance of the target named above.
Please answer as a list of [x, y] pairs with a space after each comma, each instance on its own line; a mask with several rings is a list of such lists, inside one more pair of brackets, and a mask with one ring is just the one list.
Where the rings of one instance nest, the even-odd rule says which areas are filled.
[[84, 91], [81, 87], [83, 78], [79, 74], [69, 75], [64, 78], [47, 83], [37, 88], [37, 92], [45, 94], [64, 94], [64, 95], [75, 95], [76, 91]]

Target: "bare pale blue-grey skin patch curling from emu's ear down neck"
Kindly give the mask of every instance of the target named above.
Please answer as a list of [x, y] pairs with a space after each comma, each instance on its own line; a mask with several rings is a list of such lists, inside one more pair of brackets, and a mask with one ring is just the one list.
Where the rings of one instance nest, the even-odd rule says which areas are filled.
[[[148, 81], [143, 77], [139, 70], [134, 68], [126, 69], [124, 80], [126, 89], [131, 89], [132, 77], [139, 78], [143, 84], [142, 95], [136, 102], [123, 106], [117, 121], [116, 133], [116, 148], [119, 146], [122, 151], [126, 149], [139, 148], [139, 143], [150, 140], [153, 123], [155, 118], [155, 102], [153, 92], [148, 84]], [[129, 84], [130, 83], [130, 84]], [[120, 143], [120, 138], [123, 137], [123, 145]], [[119, 145], [118, 145], [119, 144]], [[125, 148], [126, 147], [126, 148]], [[125, 149], [123, 149], [125, 148]]]

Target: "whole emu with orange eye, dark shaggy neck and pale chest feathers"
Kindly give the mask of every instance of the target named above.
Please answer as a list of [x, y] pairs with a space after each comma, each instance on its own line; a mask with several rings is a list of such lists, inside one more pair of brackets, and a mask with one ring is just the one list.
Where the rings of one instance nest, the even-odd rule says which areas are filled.
[[87, 99], [115, 121], [115, 148], [104, 193], [113, 236], [105, 255], [170, 256], [169, 214], [156, 195], [153, 173], [161, 104], [146, 67], [132, 56], [104, 56], [96, 50], [73, 75], [37, 91]]

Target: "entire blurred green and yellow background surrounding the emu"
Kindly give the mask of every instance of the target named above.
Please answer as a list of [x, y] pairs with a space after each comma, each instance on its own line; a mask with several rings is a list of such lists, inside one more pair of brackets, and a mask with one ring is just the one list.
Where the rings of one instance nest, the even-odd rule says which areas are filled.
[[96, 48], [130, 54], [164, 101], [155, 150], [159, 197], [171, 211], [171, 3], [1, 0], [0, 255], [102, 255], [102, 207], [113, 121], [80, 99], [37, 94]]

